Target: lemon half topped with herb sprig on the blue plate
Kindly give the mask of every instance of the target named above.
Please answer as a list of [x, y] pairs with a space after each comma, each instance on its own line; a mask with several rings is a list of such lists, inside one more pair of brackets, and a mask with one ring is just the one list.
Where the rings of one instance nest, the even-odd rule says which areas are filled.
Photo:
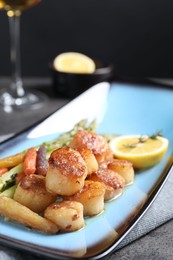
[[166, 153], [168, 139], [157, 136], [150, 138], [140, 135], [123, 135], [109, 143], [114, 156], [133, 163], [134, 168], [149, 168], [157, 164]]

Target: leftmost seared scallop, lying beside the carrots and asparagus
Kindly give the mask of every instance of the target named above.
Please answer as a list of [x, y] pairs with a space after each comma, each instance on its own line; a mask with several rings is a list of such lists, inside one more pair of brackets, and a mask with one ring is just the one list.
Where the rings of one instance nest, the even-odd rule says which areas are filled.
[[56, 195], [47, 191], [45, 177], [31, 174], [25, 176], [17, 185], [14, 200], [40, 213], [56, 200]]

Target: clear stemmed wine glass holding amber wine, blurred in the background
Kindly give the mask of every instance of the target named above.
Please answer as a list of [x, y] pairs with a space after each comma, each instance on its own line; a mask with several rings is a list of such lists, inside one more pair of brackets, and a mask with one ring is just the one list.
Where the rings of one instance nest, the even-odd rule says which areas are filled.
[[12, 77], [8, 88], [0, 91], [0, 105], [4, 111], [39, 107], [45, 100], [42, 93], [28, 92], [23, 87], [20, 65], [20, 17], [23, 10], [30, 8], [41, 0], [0, 0], [0, 8], [7, 12], [11, 40]]

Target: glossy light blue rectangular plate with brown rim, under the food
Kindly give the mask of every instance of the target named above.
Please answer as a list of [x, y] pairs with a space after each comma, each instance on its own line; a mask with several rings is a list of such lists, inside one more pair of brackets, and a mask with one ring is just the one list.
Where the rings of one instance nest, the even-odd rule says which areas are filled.
[[161, 130], [169, 149], [156, 166], [136, 173], [133, 185], [105, 203], [102, 214], [86, 219], [83, 229], [48, 235], [0, 218], [3, 244], [58, 259], [100, 259], [116, 249], [139, 221], [165, 183], [171, 169], [173, 91], [132, 84], [100, 83], [43, 122], [2, 142], [0, 157], [15, 154], [68, 131], [80, 119], [96, 118], [98, 133], [153, 134]]

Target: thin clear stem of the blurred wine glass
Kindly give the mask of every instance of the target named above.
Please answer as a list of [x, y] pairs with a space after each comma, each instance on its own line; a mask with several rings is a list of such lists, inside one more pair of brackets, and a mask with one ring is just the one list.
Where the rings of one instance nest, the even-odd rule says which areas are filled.
[[25, 95], [23, 82], [21, 78], [21, 64], [20, 64], [20, 17], [21, 13], [18, 11], [7, 12], [9, 19], [10, 30], [10, 58], [12, 66], [11, 91], [14, 98]]

